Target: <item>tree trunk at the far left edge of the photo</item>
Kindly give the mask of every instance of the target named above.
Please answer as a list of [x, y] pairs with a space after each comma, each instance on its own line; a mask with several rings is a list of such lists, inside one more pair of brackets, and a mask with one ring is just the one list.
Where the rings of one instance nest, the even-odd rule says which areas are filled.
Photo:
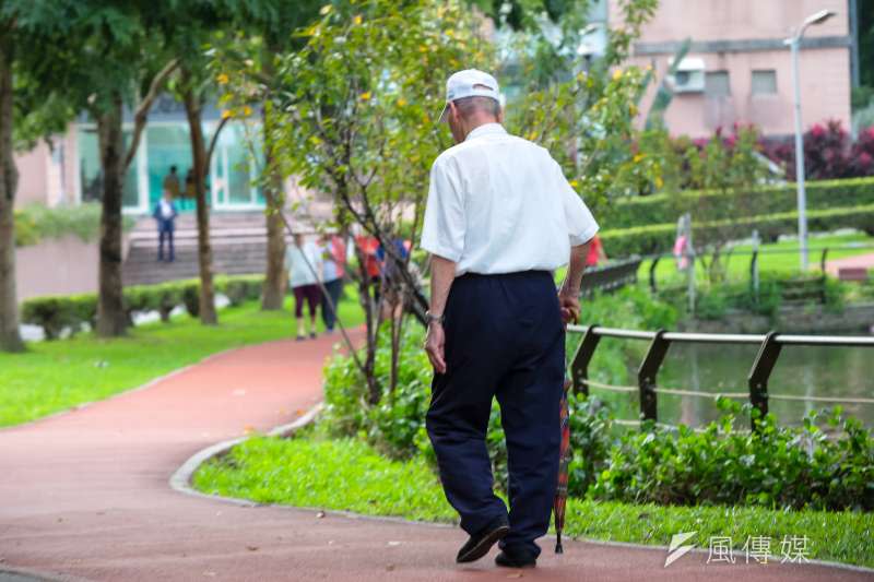
[[15, 296], [15, 225], [13, 206], [19, 170], [12, 152], [12, 51], [9, 36], [0, 43], [0, 349], [22, 352]]

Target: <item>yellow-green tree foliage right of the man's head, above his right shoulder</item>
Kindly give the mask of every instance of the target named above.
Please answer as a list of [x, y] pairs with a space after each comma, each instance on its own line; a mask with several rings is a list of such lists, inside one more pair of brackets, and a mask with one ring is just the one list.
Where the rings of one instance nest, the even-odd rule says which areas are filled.
[[612, 23], [607, 50], [591, 63], [577, 55], [588, 3], [566, 2], [556, 41], [545, 29], [517, 34], [503, 71], [505, 86], [520, 96], [507, 108], [508, 127], [548, 149], [595, 214], [612, 200], [661, 187], [657, 155], [635, 128], [651, 73], [625, 67], [630, 44], [652, 15], [653, 0], [624, 0], [623, 20]]

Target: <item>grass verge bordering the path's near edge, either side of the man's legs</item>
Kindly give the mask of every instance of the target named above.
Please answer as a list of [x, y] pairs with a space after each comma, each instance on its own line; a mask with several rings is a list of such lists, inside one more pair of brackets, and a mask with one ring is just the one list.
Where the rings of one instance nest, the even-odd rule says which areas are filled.
[[[194, 475], [208, 494], [263, 503], [347, 510], [367, 515], [454, 522], [439, 483], [424, 461], [391, 461], [356, 440], [283, 440], [256, 437], [212, 460]], [[807, 536], [805, 556], [874, 567], [874, 515], [763, 508], [661, 507], [571, 499], [570, 536], [666, 546], [673, 534], [698, 532], [731, 537], [741, 548], [747, 536], [771, 538], [780, 556], [783, 536]]]

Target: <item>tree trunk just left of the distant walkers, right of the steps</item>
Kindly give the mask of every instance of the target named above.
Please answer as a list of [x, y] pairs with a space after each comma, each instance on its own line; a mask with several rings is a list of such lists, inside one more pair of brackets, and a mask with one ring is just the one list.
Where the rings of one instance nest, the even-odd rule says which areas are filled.
[[[267, 46], [267, 45], [265, 45]], [[264, 55], [263, 74], [273, 76], [273, 55], [280, 52], [279, 47], [272, 47]], [[285, 290], [285, 229], [282, 216], [279, 215], [285, 207], [285, 190], [282, 185], [282, 175], [276, 168], [276, 143], [273, 139], [274, 119], [276, 112], [269, 99], [264, 100], [262, 127], [264, 132], [264, 170], [268, 173], [265, 192], [267, 199], [267, 273], [264, 274], [263, 297], [261, 309], [282, 309], [283, 293]]]

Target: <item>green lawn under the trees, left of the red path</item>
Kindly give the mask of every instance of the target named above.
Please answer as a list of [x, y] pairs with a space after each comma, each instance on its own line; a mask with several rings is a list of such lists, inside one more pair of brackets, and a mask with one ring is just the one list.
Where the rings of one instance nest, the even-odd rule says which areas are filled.
[[[181, 316], [132, 329], [127, 337], [101, 340], [88, 333], [31, 343], [24, 354], [0, 353], [0, 426], [105, 399], [210, 354], [292, 337], [292, 302], [287, 299], [283, 311], [262, 312], [257, 302], [227, 308], [214, 328]], [[340, 316], [346, 325], [364, 321], [357, 299], [344, 299]]]

